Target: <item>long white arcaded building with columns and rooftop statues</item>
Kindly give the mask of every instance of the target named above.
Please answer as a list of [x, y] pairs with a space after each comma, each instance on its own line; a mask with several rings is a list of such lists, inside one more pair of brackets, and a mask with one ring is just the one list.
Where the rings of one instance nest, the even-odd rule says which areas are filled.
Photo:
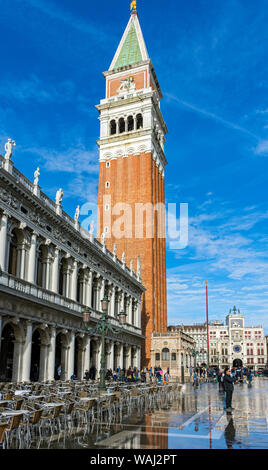
[[10, 152], [0, 156], [0, 381], [84, 377], [101, 361], [101, 333], [90, 326], [100, 318], [101, 301], [109, 299], [109, 321], [123, 332], [106, 337], [106, 366], [140, 367], [141, 296], [144, 288], [105, 244], [62, 210], [35, 182], [21, 174]]

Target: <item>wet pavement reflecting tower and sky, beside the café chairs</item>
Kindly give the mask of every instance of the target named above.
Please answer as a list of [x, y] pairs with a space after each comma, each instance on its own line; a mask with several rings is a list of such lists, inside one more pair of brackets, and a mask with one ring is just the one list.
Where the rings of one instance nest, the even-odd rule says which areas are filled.
[[[190, 384], [176, 400], [161, 408], [135, 410], [120, 424], [96, 423], [93, 428], [73, 428], [71, 435], [51, 436], [39, 448], [115, 449], [267, 449], [268, 379], [256, 378], [252, 387], [236, 385], [235, 408], [224, 411], [224, 394], [217, 384]], [[33, 446], [34, 447], [34, 446]]]

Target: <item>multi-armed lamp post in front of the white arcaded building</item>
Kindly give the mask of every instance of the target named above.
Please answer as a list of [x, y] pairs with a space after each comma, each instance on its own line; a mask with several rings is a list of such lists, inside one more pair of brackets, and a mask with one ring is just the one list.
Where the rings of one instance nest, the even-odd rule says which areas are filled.
[[[114, 334], [118, 334], [123, 329], [113, 328], [112, 325], [108, 323], [108, 306], [109, 306], [109, 299], [105, 295], [101, 301], [101, 308], [102, 308], [102, 317], [98, 320], [96, 328], [90, 328], [90, 309], [88, 307], [83, 310], [83, 323], [87, 330], [91, 333], [100, 333], [101, 334], [101, 369], [100, 369], [100, 383], [99, 383], [99, 393], [104, 392], [106, 390], [105, 385], [105, 375], [106, 375], [106, 360], [105, 360], [105, 336], [109, 331]], [[120, 312], [119, 314], [119, 322], [121, 325], [126, 323], [126, 313]]]

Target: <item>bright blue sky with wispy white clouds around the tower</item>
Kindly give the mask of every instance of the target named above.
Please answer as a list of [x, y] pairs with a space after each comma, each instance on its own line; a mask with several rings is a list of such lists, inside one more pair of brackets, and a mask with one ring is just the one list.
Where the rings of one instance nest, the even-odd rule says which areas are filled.
[[[96, 201], [95, 105], [128, 0], [1, 0], [0, 145], [64, 210]], [[189, 204], [189, 245], [167, 251], [169, 324], [235, 304], [268, 334], [266, 0], [138, 0], [164, 98], [167, 202]], [[179, 214], [178, 214], [179, 215]]]

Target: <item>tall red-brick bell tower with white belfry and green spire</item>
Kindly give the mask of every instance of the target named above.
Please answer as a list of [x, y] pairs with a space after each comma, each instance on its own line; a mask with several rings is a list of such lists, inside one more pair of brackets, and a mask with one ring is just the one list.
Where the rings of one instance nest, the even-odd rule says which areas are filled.
[[[98, 238], [141, 274], [142, 367], [150, 366], [151, 334], [167, 329], [164, 154], [167, 127], [162, 92], [149, 58], [136, 9], [106, 79], [97, 106], [99, 196]], [[116, 246], [115, 246], [116, 245]], [[140, 268], [139, 268], [140, 266]]]

